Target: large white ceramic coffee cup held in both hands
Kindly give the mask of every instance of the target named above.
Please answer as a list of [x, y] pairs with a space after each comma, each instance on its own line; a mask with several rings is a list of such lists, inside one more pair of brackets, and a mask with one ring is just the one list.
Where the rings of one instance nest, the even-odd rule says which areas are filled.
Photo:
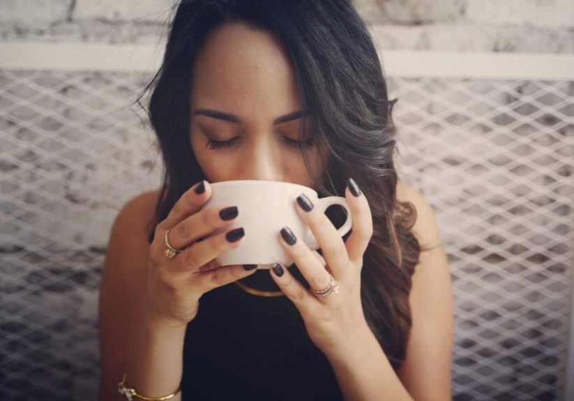
[[[213, 235], [232, 228], [243, 227], [245, 230], [243, 244], [216, 258], [220, 266], [258, 265], [257, 269], [270, 269], [275, 263], [292, 265], [294, 260], [279, 242], [280, 230], [285, 226], [293, 231], [297, 241], [303, 241], [312, 251], [319, 249], [317, 239], [296, 211], [296, 207], [299, 207], [296, 198], [302, 193], [310, 199], [315, 209], [323, 213], [331, 205], [345, 207], [347, 219], [337, 230], [340, 236], [345, 235], [352, 227], [351, 210], [342, 196], [319, 199], [317, 191], [312, 188], [282, 181], [232, 180], [209, 185], [211, 197], [202, 205], [202, 209], [237, 206], [239, 210], [239, 215], [231, 226], [217, 230]], [[322, 259], [321, 255], [316, 255]]]

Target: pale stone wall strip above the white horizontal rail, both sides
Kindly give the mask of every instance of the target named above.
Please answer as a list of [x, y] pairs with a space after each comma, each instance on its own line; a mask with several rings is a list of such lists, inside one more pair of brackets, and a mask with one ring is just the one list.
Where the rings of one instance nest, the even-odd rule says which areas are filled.
[[[383, 49], [574, 52], [572, 0], [354, 0]], [[3, 0], [1, 40], [156, 42], [173, 0]]]

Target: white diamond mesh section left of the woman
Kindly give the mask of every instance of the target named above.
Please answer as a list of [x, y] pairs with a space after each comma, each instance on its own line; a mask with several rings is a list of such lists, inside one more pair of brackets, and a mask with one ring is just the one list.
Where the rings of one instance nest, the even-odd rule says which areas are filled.
[[96, 400], [109, 230], [159, 184], [144, 74], [0, 72], [0, 399]]

